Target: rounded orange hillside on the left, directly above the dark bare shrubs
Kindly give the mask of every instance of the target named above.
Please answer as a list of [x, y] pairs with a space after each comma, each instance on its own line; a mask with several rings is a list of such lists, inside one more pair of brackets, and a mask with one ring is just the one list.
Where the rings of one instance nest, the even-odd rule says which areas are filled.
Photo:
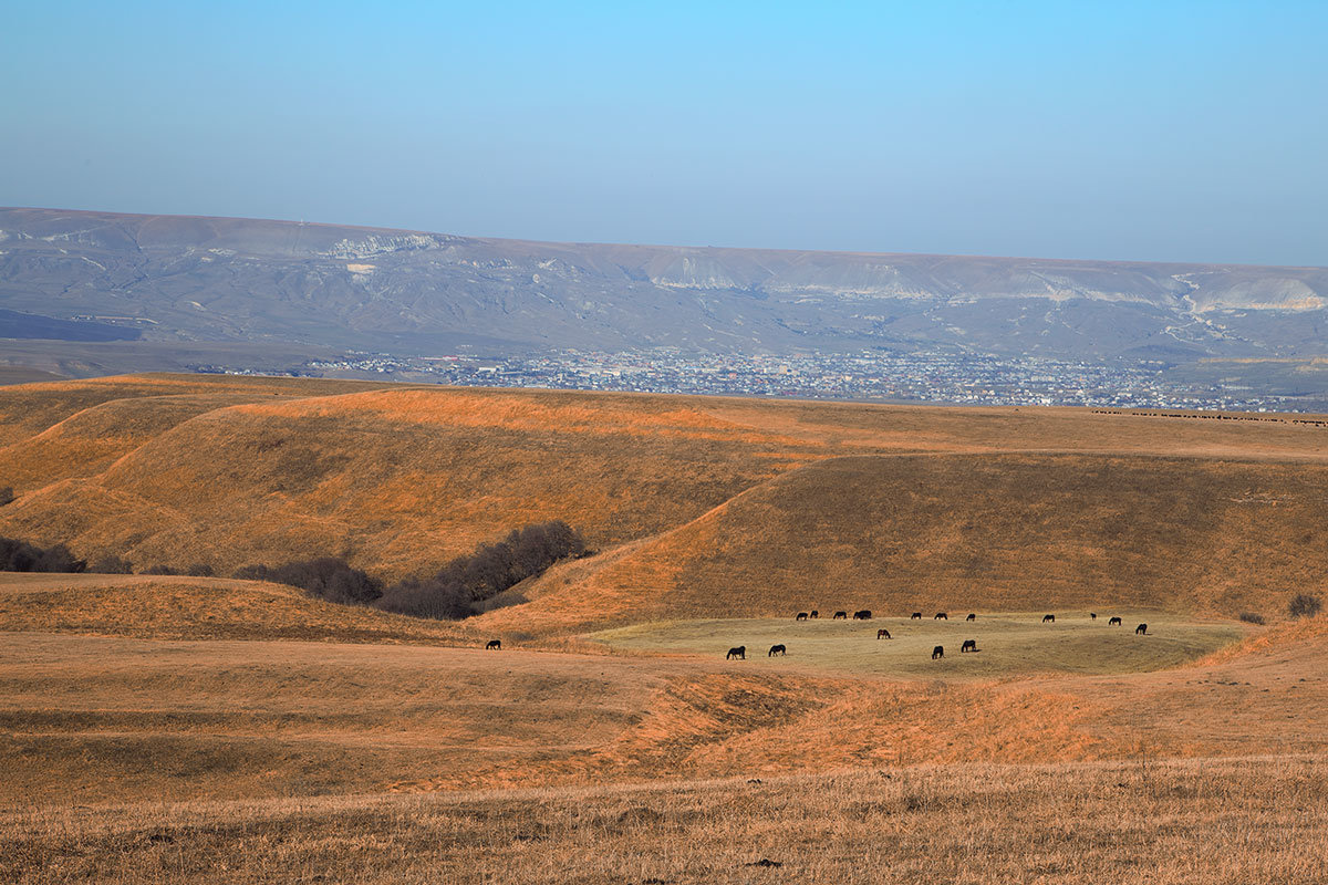
[[31, 491], [0, 511], [0, 533], [220, 573], [313, 555], [422, 573], [548, 519], [595, 547], [653, 535], [813, 454], [667, 398], [274, 398], [193, 417], [96, 476]]

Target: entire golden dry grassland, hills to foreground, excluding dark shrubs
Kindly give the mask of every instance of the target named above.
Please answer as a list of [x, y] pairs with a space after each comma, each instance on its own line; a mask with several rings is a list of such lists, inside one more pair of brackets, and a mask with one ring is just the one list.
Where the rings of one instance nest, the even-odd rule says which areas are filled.
[[463, 622], [0, 575], [0, 881], [1328, 880], [1324, 427], [135, 375], [0, 389], [0, 486], [137, 568], [595, 551]]

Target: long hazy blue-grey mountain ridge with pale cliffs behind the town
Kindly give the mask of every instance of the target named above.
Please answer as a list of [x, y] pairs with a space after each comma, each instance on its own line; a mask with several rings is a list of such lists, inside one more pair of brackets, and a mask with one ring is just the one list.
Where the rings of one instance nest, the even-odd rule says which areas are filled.
[[1058, 358], [1328, 352], [1328, 268], [535, 243], [0, 208], [0, 308], [146, 341]]

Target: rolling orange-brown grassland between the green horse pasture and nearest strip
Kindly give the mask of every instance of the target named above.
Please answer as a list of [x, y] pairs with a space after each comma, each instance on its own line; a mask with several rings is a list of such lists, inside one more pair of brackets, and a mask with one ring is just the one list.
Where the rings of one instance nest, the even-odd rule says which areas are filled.
[[[135, 579], [138, 580], [138, 579]], [[161, 579], [158, 579], [161, 580]], [[165, 582], [162, 608], [187, 589]], [[197, 593], [197, 590], [193, 590]], [[275, 604], [267, 585], [202, 610]], [[239, 596], [239, 594], [238, 594]], [[267, 601], [264, 601], [267, 600]], [[100, 600], [97, 600], [100, 602]], [[187, 606], [186, 606], [187, 608]], [[68, 618], [68, 614], [61, 614]], [[134, 629], [201, 636], [194, 616]], [[260, 614], [252, 616], [260, 620]], [[288, 616], [283, 616], [288, 617]], [[248, 641], [0, 633], [0, 801], [436, 791], [916, 763], [1328, 752], [1328, 629], [1276, 628], [1222, 662], [1110, 677], [883, 679], [795, 659], [542, 651], [309, 624]], [[11, 629], [24, 626], [7, 622]], [[104, 624], [92, 628], [104, 632]], [[371, 629], [372, 628], [372, 629]], [[220, 636], [228, 636], [223, 629]], [[268, 638], [262, 638], [268, 634]], [[321, 640], [321, 641], [307, 641]], [[458, 642], [470, 647], [408, 642]], [[340, 760], [340, 762], [339, 762]]]

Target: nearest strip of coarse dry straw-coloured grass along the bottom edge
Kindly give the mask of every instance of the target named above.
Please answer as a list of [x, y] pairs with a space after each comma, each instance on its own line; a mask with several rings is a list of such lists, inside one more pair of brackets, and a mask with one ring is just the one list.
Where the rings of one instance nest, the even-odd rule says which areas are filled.
[[616, 789], [4, 813], [0, 877], [355, 881], [1328, 880], [1328, 763], [968, 766]]

